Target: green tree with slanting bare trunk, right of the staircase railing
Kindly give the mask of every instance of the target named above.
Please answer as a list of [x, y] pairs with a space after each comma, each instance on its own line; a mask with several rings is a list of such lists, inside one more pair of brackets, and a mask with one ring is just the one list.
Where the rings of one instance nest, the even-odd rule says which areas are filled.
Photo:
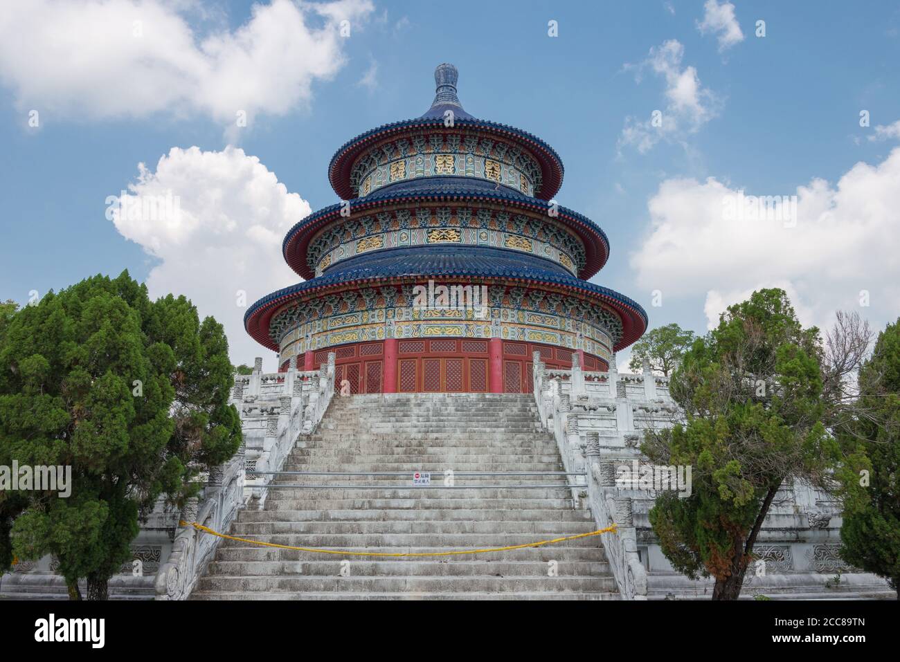
[[753, 292], [694, 342], [671, 379], [684, 420], [650, 432], [653, 462], [692, 468], [692, 491], [650, 512], [674, 568], [714, 577], [714, 600], [741, 593], [753, 545], [779, 486], [824, 485], [841, 459], [825, 430], [818, 331], [797, 322], [781, 290]]

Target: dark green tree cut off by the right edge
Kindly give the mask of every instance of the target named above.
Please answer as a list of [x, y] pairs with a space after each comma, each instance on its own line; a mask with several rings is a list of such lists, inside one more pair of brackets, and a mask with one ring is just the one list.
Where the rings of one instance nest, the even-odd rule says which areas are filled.
[[860, 370], [860, 415], [842, 441], [869, 460], [844, 484], [842, 557], [887, 578], [900, 597], [900, 319], [878, 335]]

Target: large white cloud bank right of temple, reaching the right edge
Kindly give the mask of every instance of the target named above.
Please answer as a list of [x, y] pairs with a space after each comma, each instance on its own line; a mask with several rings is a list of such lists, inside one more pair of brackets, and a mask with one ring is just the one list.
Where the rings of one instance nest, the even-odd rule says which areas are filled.
[[662, 182], [648, 204], [651, 228], [631, 256], [639, 284], [663, 296], [705, 296], [711, 325], [761, 287], [788, 291], [805, 324], [828, 326], [836, 309], [859, 309], [879, 324], [896, 319], [900, 148], [876, 165], [853, 165], [835, 184], [813, 179], [782, 194], [797, 196], [793, 219], [736, 218], [735, 201], [749, 200], [736, 187], [714, 177]]

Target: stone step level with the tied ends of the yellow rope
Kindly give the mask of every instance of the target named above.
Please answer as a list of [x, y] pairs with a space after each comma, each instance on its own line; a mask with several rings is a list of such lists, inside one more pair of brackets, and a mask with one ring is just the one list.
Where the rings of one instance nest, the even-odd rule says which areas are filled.
[[563, 537], [577, 533], [595, 531], [593, 522], [520, 522], [520, 521], [483, 521], [466, 522], [464, 520], [440, 521], [391, 521], [374, 520], [364, 522], [237, 522], [231, 527], [231, 535], [241, 537], [267, 534], [301, 534], [336, 535], [354, 534], [368, 535], [374, 533], [473, 533], [507, 535], [512, 533], [533, 533], [536, 537]]

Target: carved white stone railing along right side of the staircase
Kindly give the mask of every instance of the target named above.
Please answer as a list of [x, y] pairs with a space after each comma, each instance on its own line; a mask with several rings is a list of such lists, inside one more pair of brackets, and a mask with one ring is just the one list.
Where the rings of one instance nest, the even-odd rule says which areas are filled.
[[[619, 595], [626, 600], [647, 599], [647, 573], [637, 551], [637, 534], [633, 521], [632, 502], [628, 497], [619, 497], [615, 486], [615, 473], [611, 479], [601, 477], [614, 471], [612, 464], [601, 464], [599, 460], [599, 440], [591, 435], [586, 443], [581, 442], [578, 416], [572, 414], [572, 401], [581, 403], [590, 399], [586, 380], [581, 368], [575, 364], [571, 371], [548, 371], [541, 362], [539, 353], [534, 353], [534, 395], [541, 423], [553, 431], [554, 439], [563, 458], [566, 471], [586, 470], [584, 485], [572, 487], [573, 498], [578, 503], [582, 491], [586, 492], [590, 512], [598, 528], [616, 524], [617, 531], [603, 537], [603, 546], [609, 559], [609, 567]], [[611, 371], [608, 380], [589, 382], [615, 389], [616, 373]], [[568, 377], [568, 389], [563, 389], [563, 379]], [[609, 393], [610, 391], [608, 391]], [[615, 394], [616, 391], [611, 391]], [[615, 397], [615, 395], [613, 395]]]

